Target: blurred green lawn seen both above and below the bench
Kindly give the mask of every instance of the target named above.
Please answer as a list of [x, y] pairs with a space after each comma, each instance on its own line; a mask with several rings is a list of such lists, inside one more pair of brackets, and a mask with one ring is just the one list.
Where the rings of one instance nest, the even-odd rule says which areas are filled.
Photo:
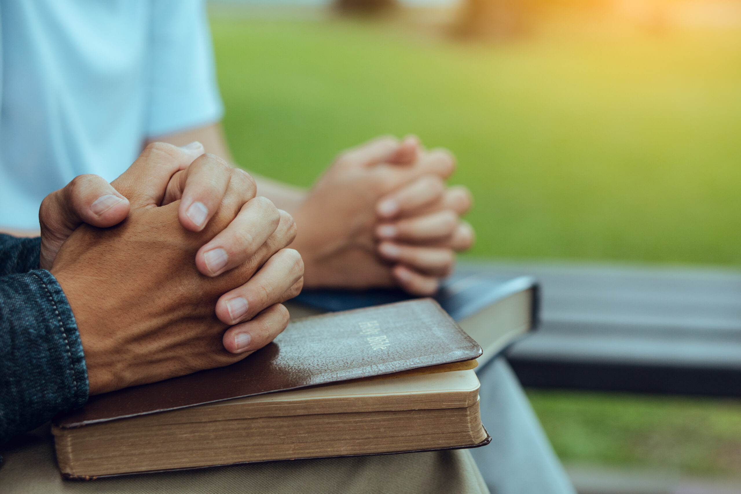
[[[212, 26], [247, 169], [308, 186], [339, 150], [413, 132], [458, 156], [475, 256], [741, 264], [739, 32], [484, 47], [336, 21]], [[741, 471], [739, 403], [529, 394], [567, 461]]]

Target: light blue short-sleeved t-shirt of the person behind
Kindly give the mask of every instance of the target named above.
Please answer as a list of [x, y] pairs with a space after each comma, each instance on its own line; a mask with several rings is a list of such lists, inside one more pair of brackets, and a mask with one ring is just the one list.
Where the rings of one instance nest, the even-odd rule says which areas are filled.
[[202, 0], [0, 0], [0, 227], [48, 193], [107, 181], [146, 138], [219, 121]]

